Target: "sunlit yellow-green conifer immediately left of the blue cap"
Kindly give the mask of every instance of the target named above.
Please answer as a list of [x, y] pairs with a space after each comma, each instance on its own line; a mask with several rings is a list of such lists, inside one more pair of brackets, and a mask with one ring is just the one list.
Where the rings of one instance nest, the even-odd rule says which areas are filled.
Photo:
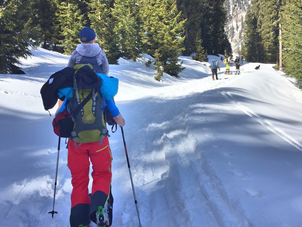
[[86, 21], [79, 9], [77, 0], [61, 1], [56, 0], [58, 11], [56, 17], [59, 22], [60, 34], [63, 37], [64, 54], [71, 54], [80, 43], [79, 31], [84, 27]]

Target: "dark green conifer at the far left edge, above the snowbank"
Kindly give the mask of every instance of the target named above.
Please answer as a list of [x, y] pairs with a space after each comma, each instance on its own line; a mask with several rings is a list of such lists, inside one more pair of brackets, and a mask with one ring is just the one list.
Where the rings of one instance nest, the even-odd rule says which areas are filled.
[[31, 0], [2, 1], [0, 5], [0, 73], [24, 74], [16, 64], [39, 43], [40, 28], [32, 26]]

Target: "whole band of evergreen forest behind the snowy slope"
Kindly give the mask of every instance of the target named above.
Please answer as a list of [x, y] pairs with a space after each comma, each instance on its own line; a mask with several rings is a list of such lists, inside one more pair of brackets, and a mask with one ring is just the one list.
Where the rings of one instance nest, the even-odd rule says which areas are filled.
[[[80, 43], [79, 31], [88, 26], [109, 64], [146, 53], [155, 59], [150, 64], [156, 66], [156, 80], [163, 72], [178, 77], [184, 69], [179, 55], [207, 61], [207, 54], [232, 54], [226, 1], [240, 5], [237, 0], [0, 0], [0, 73], [22, 74], [19, 59], [29, 57], [32, 48], [71, 54]], [[302, 82], [302, 0], [250, 3], [240, 54], [245, 61], [276, 64]]]

